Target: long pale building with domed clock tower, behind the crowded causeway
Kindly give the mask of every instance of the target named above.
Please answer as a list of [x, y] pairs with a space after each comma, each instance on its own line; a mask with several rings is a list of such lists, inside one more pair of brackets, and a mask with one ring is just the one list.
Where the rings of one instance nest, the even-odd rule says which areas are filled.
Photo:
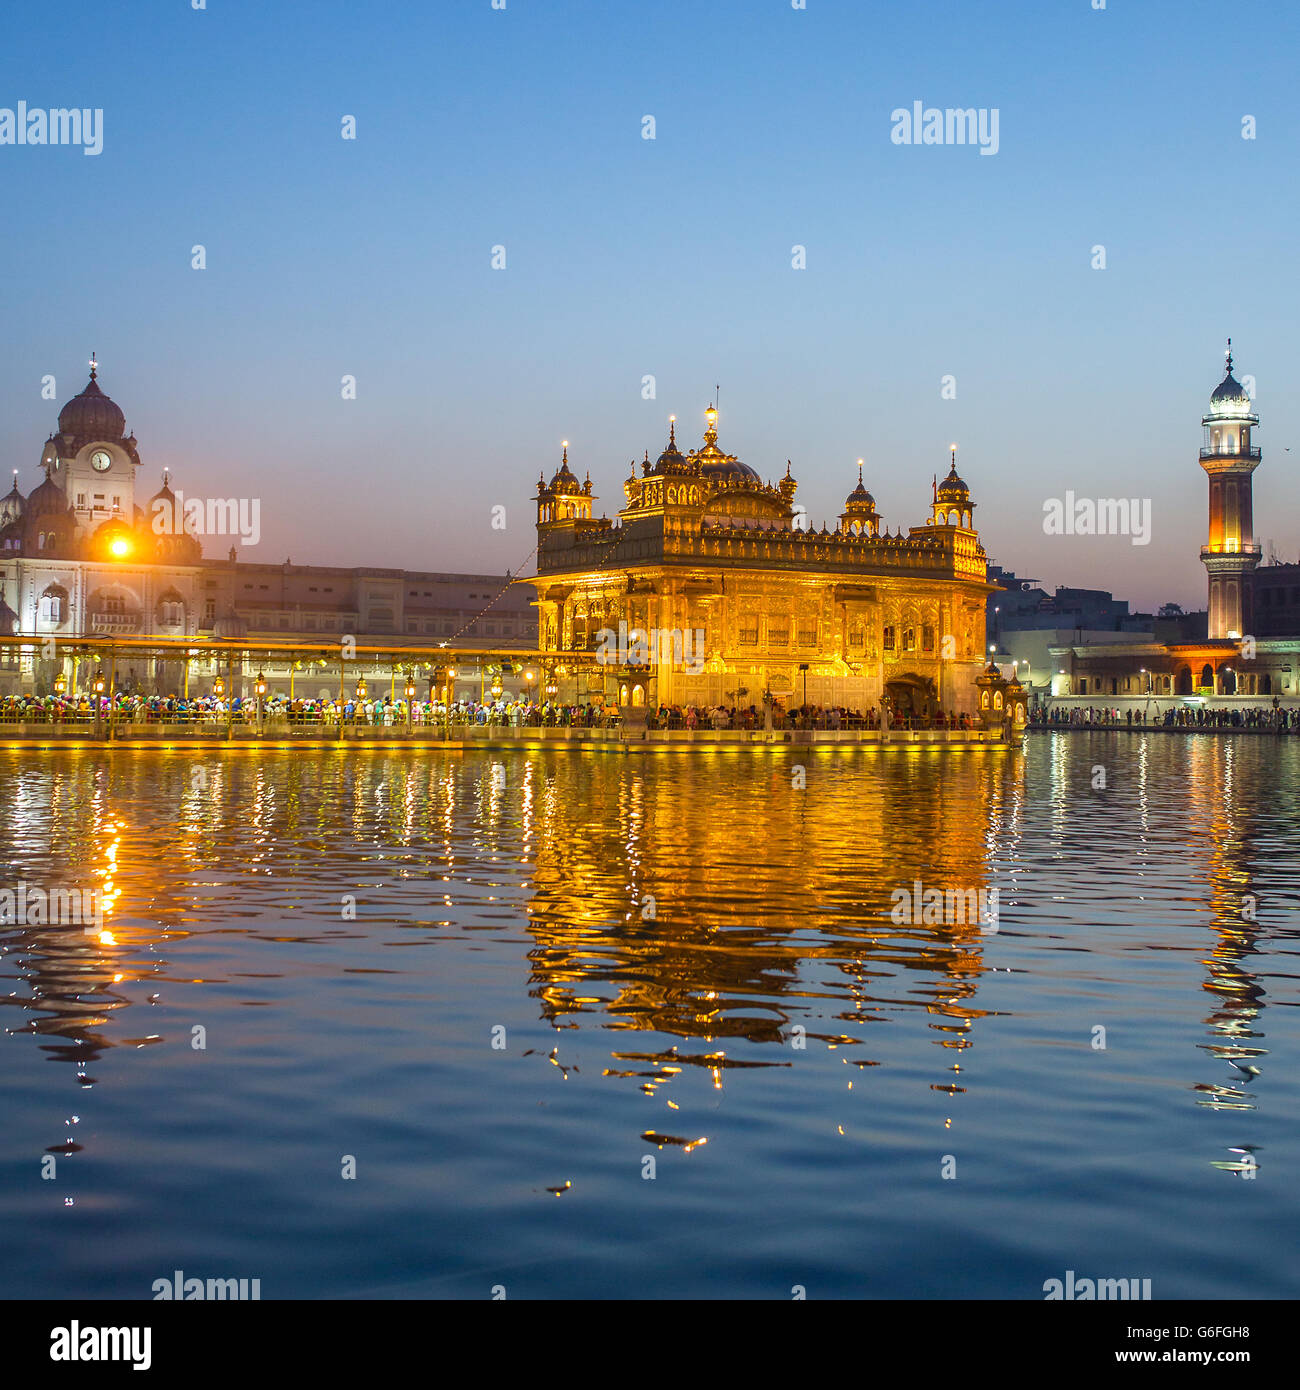
[[[14, 470], [0, 498], [0, 635], [250, 644], [350, 635], [359, 644], [535, 648], [533, 592], [510, 575], [250, 563], [235, 546], [224, 560], [206, 559], [200, 537], [214, 534], [213, 520], [222, 545], [239, 543], [246, 500], [185, 498], [165, 474], [139, 500], [136, 438], [97, 377], [92, 363], [85, 391], [60, 410], [42, 449], [42, 482], [25, 496]], [[0, 692], [53, 680], [39, 655], [0, 662]], [[174, 666], [138, 666], [140, 685], [177, 687]], [[274, 667], [266, 674], [278, 684]]]

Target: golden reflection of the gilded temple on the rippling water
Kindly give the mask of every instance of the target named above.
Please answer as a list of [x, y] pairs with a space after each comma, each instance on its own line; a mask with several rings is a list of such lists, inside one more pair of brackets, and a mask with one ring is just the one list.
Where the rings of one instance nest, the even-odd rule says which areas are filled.
[[1023, 762], [976, 755], [952, 778], [900, 759], [884, 796], [856, 795], [861, 769], [833, 758], [791, 791], [790, 763], [759, 764], [741, 815], [623, 760], [591, 769], [598, 823], [539, 817], [530, 962], [548, 1020], [705, 1044], [690, 1054], [709, 1066], [727, 1040], [858, 1045], [900, 1009], [969, 1045], [980, 926], [895, 924], [890, 894], [987, 890], [1018, 834]]

